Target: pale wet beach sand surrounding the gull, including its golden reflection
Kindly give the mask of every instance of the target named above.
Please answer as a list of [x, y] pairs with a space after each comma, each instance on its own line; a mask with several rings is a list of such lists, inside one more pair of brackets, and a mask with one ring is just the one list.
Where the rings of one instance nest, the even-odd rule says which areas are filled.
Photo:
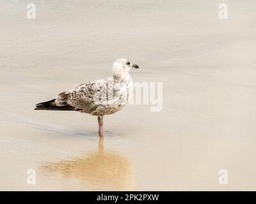
[[[256, 2], [30, 1], [0, 4], [0, 190], [256, 190]], [[131, 59], [163, 83], [163, 110], [104, 118], [35, 111]], [[36, 184], [27, 183], [35, 170]], [[228, 184], [219, 182], [219, 170]]]

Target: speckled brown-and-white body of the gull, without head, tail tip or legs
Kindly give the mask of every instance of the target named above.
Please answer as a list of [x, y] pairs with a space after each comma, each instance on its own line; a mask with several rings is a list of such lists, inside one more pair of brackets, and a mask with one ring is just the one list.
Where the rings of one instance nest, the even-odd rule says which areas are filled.
[[81, 84], [75, 89], [56, 96], [57, 106], [72, 106], [74, 110], [91, 115], [108, 115], [121, 110], [132, 91], [131, 76], [109, 77]]

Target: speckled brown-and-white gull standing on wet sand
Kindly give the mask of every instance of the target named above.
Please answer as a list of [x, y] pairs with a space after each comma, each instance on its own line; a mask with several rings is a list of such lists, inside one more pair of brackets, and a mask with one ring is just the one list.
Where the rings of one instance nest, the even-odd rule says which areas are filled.
[[36, 104], [35, 110], [72, 110], [97, 116], [99, 136], [104, 135], [103, 117], [122, 110], [132, 94], [131, 68], [138, 69], [127, 59], [113, 62], [113, 77], [95, 80], [61, 92], [56, 98]]

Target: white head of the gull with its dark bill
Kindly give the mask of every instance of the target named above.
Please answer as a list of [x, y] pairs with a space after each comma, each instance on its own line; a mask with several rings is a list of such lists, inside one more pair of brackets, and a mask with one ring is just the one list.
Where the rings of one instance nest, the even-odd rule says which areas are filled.
[[138, 69], [139, 66], [137, 64], [132, 64], [128, 59], [116, 59], [113, 63], [113, 75], [115, 76], [123, 76], [129, 73], [131, 68]]

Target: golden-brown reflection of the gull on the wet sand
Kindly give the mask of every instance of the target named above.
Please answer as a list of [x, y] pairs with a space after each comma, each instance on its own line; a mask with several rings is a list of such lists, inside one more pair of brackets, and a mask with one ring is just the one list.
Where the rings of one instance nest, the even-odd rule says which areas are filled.
[[59, 162], [45, 162], [42, 171], [84, 180], [102, 190], [131, 191], [133, 186], [131, 164], [115, 152], [104, 151], [103, 137], [99, 138], [97, 152]]

